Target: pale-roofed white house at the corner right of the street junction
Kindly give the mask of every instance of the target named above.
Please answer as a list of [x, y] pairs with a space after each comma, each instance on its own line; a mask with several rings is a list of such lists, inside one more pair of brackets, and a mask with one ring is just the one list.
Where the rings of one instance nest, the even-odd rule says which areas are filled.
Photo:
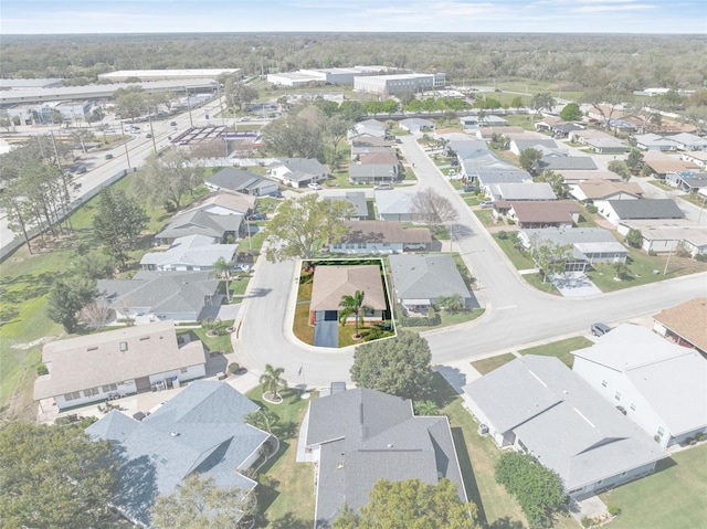
[[613, 233], [601, 228], [520, 230], [518, 240], [526, 250], [546, 241], [571, 245], [572, 257], [564, 263], [564, 272], [585, 272], [597, 263], [625, 263], [629, 256], [629, 250], [616, 241]]

